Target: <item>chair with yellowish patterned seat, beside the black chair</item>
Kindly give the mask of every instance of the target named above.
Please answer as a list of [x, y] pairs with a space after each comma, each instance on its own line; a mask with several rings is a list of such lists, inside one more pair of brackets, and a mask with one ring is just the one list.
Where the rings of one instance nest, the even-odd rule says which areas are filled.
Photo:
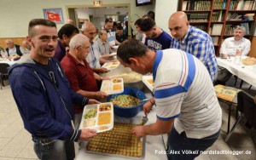
[[[224, 85], [216, 85], [214, 86], [216, 95], [218, 97], [218, 101], [224, 102], [229, 106], [229, 117], [228, 117], [228, 129], [227, 134], [230, 133], [230, 117], [231, 117], [231, 106], [237, 105], [237, 93], [240, 92], [240, 89], [235, 89], [231, 87], [227, 87]], [[236, 114], [237, 117], [237, 114]]]

